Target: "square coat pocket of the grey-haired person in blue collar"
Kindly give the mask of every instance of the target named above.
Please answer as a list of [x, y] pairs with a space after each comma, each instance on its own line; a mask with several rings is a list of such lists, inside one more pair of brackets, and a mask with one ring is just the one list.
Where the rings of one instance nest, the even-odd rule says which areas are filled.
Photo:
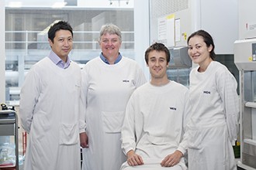
[[123, 117], [123, 111], [102, 112], [103, 130], [106, 133], [121, 132]]

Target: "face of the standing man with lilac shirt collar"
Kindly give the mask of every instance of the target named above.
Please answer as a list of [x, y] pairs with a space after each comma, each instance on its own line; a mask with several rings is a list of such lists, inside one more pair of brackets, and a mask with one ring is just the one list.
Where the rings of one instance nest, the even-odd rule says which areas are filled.
[[73, 47], [73, 37], [70, 31], [60, 29], [55, 32], [54, 41], [48, 39], [51, 49], [57, 54], [64, 62], [67, 60], [67, 55]]

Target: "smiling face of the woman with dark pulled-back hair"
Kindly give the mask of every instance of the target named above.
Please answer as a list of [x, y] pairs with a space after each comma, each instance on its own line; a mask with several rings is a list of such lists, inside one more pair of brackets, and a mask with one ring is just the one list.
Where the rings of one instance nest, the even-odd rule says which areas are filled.
[[210, 52], [213, 49], [213, 46], [206, 46], [206, 42], [202, 36], [193, 36], [189, 39], [189, 56], [194, 63], [198, 63], [199, 66], [208, 66], [212, 61], [210, 57]]

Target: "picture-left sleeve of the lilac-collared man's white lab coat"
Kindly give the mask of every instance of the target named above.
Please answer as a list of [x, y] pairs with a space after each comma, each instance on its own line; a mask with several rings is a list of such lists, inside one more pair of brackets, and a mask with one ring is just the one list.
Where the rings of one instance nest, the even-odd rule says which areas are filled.
[[33, 121], [33, 113], [38, 98], [40, 97], [40, 76], [35, 68], [31, 68], [26, 74], [19, 100], [19, 117], [22, 128], [29, 133]]

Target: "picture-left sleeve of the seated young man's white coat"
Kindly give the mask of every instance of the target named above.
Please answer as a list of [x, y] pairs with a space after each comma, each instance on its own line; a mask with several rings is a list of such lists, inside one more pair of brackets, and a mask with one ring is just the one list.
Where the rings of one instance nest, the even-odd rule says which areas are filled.
[[126, 105], [126, 113], [121, 129], [121, 147], [125, 155], [130, 150], [135, 151], [136, 148], [135, 114], [134, 99], [132, 95]]

